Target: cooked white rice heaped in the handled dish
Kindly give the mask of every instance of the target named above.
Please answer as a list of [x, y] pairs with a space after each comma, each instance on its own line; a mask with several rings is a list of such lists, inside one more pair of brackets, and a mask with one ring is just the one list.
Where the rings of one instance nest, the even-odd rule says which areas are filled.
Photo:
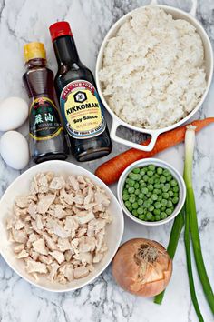
[[190, 114], [206, 89], [202, 41], [187, 21], [155, 6], [140, 8], [108, 41], [99, 76], [123, 121], [170, 126]]

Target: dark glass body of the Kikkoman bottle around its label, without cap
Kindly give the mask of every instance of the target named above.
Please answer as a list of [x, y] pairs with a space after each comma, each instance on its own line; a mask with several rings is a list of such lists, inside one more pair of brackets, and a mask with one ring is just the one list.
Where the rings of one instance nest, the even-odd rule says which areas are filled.
[[[85, 80], [89, 82], [96, 90], [95, 81], [92, 72], [82, 64], [79, 59], [73, 36], [59, 36], [53, 41], [53, 48], [58, 62], [58, 72], [55, 76], [55, 89], [58, 100], [61, 105], [61, 113], [64, 116], [64, 108], [61, 104], [61, 96], [65, 86], [73, 81]], [[81, 90], [80, 90], [81, 92]], [[82, 94], [81, 94], [82, 95]], [[102, 102], [99, 99], [99, 105], [102, 110]], [[81, 103], [77, 103], [81, 106]], [[78, 107], [77, 107], [78, 108]], [[84, 108], [84, 105], [83, 105]], [[83, 114], [82, 114], [83, 116]], [[103, 116], [102, 119], [104, 120]], [[105, 122], [105, 121], [104, 121]], [[63, 117], [64, 127], [66, 119]], [[112, 151], [112, 142], [109, 136], [109, 130], [105, 124], [101, 134], [89, 136], [89, 138], [78, 138], [70, 135], [67, 131], [68, 144], [71, 147], [72, 154], [78, 161], [90, 161], [102, 156], [107, 156]]]

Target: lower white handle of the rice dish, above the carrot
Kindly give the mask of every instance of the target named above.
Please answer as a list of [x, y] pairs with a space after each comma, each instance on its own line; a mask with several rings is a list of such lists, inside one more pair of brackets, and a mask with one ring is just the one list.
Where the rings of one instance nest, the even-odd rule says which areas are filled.
[[111, 128], [111, 132], [110, 132], [110, 136], [112, 137], [113, 141], [121, 143], [122, 145], [125, 145], [125, 146], [131, 146], [133, 148], [136, 148], [141, 151], [146, 151], [146, 152], [149, 152], [153, 149], [153, 147], [156, 143], [156, 140], [161, 133], [161, 131], [157, 131], [157, 132], [154, 132], [151, 134], [151, 131], [149, 131], [149, 130], [147, 131], [146, 129], [145, 130], [143, 129], [142, 133], [149, 134], [151, 136], [151, 142], [147, 146], [142, 146], [138, 143], [134, 143], [129, 140], [126, 140], [125, 138], [117, 136], [116, 132], [117, 132], [118, 126], [124, 126], [124, 125], [120, 124], [120, 122], [118, 120], [113, 118], [112, 119], [112, 128]]

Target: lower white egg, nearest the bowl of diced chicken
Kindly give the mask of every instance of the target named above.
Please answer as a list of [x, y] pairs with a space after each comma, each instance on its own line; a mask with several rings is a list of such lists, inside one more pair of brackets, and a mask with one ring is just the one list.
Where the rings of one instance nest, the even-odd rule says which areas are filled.
[[15, 170], [24, 169], [29, 162], [27, 140], [16, 131], [8, 131], [1, 137], [0, 153], [5, 163]]

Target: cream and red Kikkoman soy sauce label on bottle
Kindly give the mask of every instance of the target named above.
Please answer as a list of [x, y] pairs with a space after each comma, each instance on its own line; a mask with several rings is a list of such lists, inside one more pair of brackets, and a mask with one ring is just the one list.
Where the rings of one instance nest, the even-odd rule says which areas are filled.
[[63, 88], [60, 106], [68, 134], [83, 139], [100, 135], [106, 126], [102, 102], [94, 86], [77, 80]]

